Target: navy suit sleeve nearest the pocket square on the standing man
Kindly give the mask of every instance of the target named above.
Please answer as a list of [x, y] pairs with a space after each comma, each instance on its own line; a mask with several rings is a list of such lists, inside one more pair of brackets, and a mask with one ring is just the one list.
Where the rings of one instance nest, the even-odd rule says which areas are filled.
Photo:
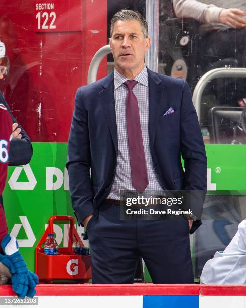
[[[196, 208], [201, 213], [207, 191], [207, 157], [187, 82], [183, 84], [181, 105], [181, 154], [185, 168], [184, 190], [201, 191], [199, 194], [191, 195], [190, 208]], [[194, 221], [190, 233], [200, 225], [200, 220]]]

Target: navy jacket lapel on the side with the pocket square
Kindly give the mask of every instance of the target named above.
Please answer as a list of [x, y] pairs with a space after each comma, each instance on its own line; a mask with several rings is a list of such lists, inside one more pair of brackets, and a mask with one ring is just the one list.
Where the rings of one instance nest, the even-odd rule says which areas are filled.
[[161, 80], [158, 75], [148, 68], [147, 70], [149, 78], [149, 138], [150, 147], [153, 149], [156, 123], [158, 121], [160, 101], [164, 88], [160, 85]]

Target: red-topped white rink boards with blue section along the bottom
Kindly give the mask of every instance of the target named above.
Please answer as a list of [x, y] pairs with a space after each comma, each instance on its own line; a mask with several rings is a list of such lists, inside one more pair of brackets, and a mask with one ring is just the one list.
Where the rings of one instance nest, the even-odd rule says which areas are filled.
[[11, 285], [0, 286], [0, 306], [74, 306], [102, 308], [244, 308], [246, 286], [199, 284], [39, 284], [33, 299], [19, 301]]

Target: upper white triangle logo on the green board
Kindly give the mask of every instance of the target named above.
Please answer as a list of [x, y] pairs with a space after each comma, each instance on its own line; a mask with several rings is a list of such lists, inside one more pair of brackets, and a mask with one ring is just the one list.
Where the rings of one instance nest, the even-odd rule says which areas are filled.
[[[26, 173], [28, 182], [18, 182], [18, 178], [22, 172]], [[33, 190], [37, 184], [37, 180], [29, 164], [22, 167], [16, 167], [9, 179], [10, 188], [13, 190]]]

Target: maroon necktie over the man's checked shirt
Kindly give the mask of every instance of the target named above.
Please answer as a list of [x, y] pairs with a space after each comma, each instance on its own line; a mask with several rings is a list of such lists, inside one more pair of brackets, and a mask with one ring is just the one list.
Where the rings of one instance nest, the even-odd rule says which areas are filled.
[[149, 181], [140, 125], [139, 106], [137, 98], [133, 93], [133, 87], [137, 83], [136, 80], [128, 80], [124, 83], [124, 85], [128, 87], [126, 98], [126, 118], [132, 185], [137, 191], [144, 191], [149, 184]]

